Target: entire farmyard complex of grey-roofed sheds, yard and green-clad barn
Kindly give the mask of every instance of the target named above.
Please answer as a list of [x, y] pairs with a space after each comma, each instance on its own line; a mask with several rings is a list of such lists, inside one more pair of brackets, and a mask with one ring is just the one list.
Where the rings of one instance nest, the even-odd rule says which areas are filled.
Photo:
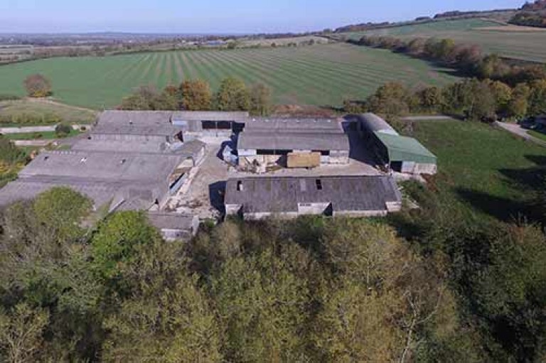
[[[368, 156], [355, 160], [355, 148]], [[245, 220], [386, 215], [402, 207], [396, 173], [436, 171], [432, 153], [373, 114], [106, 111], [70, 150], [40, 153], [0, 205], [63, 185], [97, 209], [145, 210], [166, 239], [187, 239], [213, 209]]]

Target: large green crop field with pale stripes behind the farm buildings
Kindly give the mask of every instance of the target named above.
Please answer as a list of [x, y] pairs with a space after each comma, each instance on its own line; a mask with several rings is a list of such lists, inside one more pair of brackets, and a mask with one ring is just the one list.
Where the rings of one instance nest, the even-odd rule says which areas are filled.
[[340, 105], [363, 98], [387, 81], [445, 85], [450, 70], [423, 60], [344, 43], [299, 48], [186, 50], [102, 58], [50, 58], [0, 66], [0, 94], [24, 94], [23, 80], [41, 73], [53, 82], [56, 100], [92, 109], [119, 104], [139, 85], [176, 84], [202, 78], [216, 90], [233, 76], [272, 89], [277, 104]]

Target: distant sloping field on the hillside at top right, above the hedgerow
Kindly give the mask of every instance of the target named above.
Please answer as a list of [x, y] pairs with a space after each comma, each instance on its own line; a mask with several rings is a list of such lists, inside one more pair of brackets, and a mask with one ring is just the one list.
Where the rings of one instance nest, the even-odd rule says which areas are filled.
[[458, 43], [479, 45], [486, 53], [546, 63], [546, 30], [515, 31], [513, 26], [505, 28], [506, 31], [493, 21], [462, 19], [343, 34], [353, 39], [363, 35], [451, 38]]

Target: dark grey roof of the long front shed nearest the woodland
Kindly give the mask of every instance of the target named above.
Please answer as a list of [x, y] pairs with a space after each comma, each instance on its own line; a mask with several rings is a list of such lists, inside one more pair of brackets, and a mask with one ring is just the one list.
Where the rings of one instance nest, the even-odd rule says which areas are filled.
[[383, 211], [386, 202], [401, 200], [395, 180], [382, 175], [230, 178], [225, 190], [225, 204], [245, 212], [297, 212], [298, 203], [332, 203], [334, 212]]

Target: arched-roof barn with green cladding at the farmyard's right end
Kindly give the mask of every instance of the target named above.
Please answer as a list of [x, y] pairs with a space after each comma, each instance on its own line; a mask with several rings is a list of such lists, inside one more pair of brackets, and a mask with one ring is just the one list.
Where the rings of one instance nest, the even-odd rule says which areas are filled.
[[358, 131], [381, 165], [410, 174], [435, 174], [437, 158], [419, 141], [400, 136], [387, 121], [375, 114], [358, 117]]

